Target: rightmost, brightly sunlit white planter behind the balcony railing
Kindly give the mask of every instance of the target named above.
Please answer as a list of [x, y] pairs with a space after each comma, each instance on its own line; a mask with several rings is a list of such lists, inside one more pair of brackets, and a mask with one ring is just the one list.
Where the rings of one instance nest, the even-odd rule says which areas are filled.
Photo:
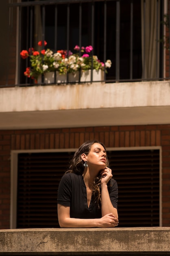
[[[81, 82], [91, 82], [91, 70], [85, 70], [81, 72]], [[104, 71], [102, 70], [93, 70], [92, 81], [102, 81], [104, 80]]]

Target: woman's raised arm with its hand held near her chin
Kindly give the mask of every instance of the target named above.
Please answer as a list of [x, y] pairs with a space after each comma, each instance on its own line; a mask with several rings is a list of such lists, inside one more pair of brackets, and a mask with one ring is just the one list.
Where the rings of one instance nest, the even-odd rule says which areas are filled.
[[107, 183], [113, 176], [111, 174], [111, 169], [105, 168], [104, 171], [101, 173], [103, 175], [101, 179], [101, 205], [102, 205], [102, 216], [105, 216], [108, 213], [113, 213], [113, 216], [115, 216], [118, 219], [118, 211], [115, 207], [113, 207], [109, 191], [107, 188]]

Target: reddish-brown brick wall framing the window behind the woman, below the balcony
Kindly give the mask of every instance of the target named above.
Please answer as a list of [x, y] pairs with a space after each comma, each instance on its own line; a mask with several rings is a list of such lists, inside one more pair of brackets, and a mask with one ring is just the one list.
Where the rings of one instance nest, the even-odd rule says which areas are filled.
[[162, 218], [170, 227], [170, 125], [0, 131], [0, 229], [9, 228], [10, 150], [78, 148], [98, 139], [107, 147], [162, 146]]

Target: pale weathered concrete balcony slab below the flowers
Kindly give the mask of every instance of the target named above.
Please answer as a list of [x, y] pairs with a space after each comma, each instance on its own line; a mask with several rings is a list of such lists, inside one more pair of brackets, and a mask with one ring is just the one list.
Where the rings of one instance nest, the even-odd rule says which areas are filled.
[[0, 129], [170, 124], [170, 81], [0, 89]]

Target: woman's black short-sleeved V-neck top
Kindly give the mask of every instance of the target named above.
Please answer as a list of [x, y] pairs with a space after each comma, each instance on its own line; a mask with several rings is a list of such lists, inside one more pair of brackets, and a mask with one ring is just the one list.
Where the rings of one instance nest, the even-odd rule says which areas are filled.
[[[118, 185], [116, 180], [111, 179], [108, 186], [109, 196], [113, 207], [117, 209]], [[94, 204], [94, 196], [87, 206], [87, 192], [82, 175], [66, 173], [61, 178], [58, 190], [57, 203], [70, 207], [70, 218], [94, 219], [101, 218], [101, 209]]]

